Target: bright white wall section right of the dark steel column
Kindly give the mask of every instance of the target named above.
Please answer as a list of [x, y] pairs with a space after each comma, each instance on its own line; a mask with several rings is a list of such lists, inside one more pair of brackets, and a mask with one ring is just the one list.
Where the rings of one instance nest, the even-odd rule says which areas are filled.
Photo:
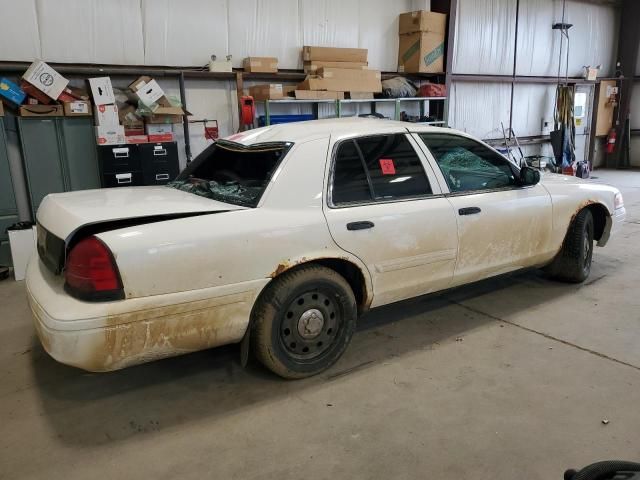
[[[511, 75], [515, 19], [516, 0], [458, 0], [453, 73]], [[551, 26], [561, 19], [561, 0], [520, 1], [517, 75], [557, 75], [560, 33]], [[582, 75], [584, 65], [601, 65], [600, 76], [613, 75], [619, 11], [569, 0], [565, 22], [574, 25], [569, 31], [568, 75]], [[509, 124], [510, 96], [510, 84], [454, 82], [450, 124], [481, 138], [500, 138], [500, 122], [505, 127]], [[516, 135], [541, 135], [542, 119], [553, 117], [554, 97], [553, 84], [517, 84], [513, 105]]]

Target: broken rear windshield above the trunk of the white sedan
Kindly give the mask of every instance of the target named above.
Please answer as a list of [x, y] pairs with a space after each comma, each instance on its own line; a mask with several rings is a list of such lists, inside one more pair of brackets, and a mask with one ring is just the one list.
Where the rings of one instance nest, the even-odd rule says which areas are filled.
[[167, 184], [220, 202], [256, 207], [291, 143], [210, 145]]

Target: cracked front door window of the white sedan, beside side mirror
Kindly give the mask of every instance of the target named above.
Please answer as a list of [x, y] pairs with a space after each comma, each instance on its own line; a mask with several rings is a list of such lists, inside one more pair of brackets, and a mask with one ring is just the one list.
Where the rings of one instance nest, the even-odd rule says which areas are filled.
[[420, 138], [435, 157], [451, 192], [518, 185], [511, 162], [475, 140], [446, 133], [423, 133]]

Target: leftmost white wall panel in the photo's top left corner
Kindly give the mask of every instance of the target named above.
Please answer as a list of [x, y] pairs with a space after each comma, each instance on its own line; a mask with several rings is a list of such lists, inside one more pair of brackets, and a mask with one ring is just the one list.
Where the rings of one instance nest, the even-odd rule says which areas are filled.
[[0, 58], [33, 60], [41, 56], [35, 0], [0, 0]]

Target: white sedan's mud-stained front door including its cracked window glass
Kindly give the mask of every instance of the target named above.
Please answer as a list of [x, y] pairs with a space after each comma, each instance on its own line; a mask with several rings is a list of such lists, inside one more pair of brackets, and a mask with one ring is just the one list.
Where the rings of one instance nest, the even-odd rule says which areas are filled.
[[419, 134], [438, 167], [458, 219], [453, 285], [544, 262], [551, 250], [551, 197], [541, 185], [520, 186], [518, 169], [469, 137]]

